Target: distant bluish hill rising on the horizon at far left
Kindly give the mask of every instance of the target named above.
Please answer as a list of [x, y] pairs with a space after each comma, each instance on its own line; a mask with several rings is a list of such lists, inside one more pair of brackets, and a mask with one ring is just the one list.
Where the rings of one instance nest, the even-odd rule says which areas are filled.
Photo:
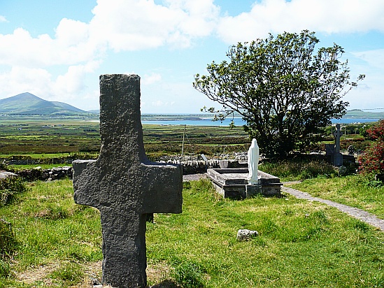
[[66, 103], [46, 101], [31, 93], [0, 99], [0, 113], [29, 115], [78, 115], [88, 112]]

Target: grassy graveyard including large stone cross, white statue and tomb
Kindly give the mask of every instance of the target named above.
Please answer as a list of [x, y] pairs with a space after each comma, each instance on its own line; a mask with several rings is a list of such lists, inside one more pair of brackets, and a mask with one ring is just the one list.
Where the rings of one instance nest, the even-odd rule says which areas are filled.
[[[138, 77], [101, 75], [100, 85], [97, 159], [73, 161], [73, 180], [7, 178], [0, 189], [0, 287], [383, 287], [384, 189], [335, 168], [348, 158], [339, 127], [329, 164], [258, 166], [254, 140], [248, 168], [183, 181], [180, 164], [146, 155]], [[235, 148], [242, 137], [232, 137]], [[244, 192], [227, 197], [215, 180], [240, 181]], [[372, 213], [379, 225], [282, 184]], [[253, 237], [238, 240], [243, 229]]]

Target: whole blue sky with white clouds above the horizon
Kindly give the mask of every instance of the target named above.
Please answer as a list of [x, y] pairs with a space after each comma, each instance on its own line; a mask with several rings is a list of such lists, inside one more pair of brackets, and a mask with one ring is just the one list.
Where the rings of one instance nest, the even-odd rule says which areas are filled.
[[366, 75], [348, 110], [384, 108], [383, 0], [1, 0], [0, 99], [30, 92], [93, 110], [99, 75], [135, 73], [141, 113], [199, 113], [220, 108], [192, 86], [207, 64], [304, 29], [318, 47], [343, 47], [350, 80]]

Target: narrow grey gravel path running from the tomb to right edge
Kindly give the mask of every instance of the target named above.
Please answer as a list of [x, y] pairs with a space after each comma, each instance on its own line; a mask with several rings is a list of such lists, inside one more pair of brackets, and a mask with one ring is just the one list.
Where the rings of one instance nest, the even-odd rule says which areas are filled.
[[293, 196], [295, 196], [298, 199], [306, 199], [309, 201], [318, 201], [321, 203], [325, 203], [329, 206], [332, 206], [334, 208], [339, 209], [343, 213], [347, 213], [348, 215], [355, 217], [357, 219], [362, 220], [363, 222], [366, 222], [368, 224], [371, 224], [372, 226], [377, 227], [378, 229], [381, 229], [381, 231], [384, 231], [384, 220], [376, 217], [376, 215], [373, 215], [371, 213], [368, 213], [367, 211], [358, 209], [358, 208], [353, 208], [350, 206], [346, 206], [340, 203], [336, 203], [334, 201], [329, 201], [329, 200], [324, 200], [321, 198], [313, 197], [308, 193], [301, 192], [299, 190], [290, 188], [290, 187], [281, 187], [281, 191], [287, 192]]

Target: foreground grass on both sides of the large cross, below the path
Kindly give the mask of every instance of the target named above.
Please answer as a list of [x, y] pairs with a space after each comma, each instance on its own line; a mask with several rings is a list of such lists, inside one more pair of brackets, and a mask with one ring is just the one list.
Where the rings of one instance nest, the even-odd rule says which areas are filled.
[[[99, 213], [72, 196], [69, 180], [34, 182], [0, 208], [17, 241], [0, 287], [87, 287], [100, 277]], [[383, 232], [334, 208], [291, 196], [220, 199], [207, 180], [185, 185], [183, 198], [182, 214], [147, 224], [150, 285], [384, 287]], [[238, 229], [259, 236], [240, 243]]]

